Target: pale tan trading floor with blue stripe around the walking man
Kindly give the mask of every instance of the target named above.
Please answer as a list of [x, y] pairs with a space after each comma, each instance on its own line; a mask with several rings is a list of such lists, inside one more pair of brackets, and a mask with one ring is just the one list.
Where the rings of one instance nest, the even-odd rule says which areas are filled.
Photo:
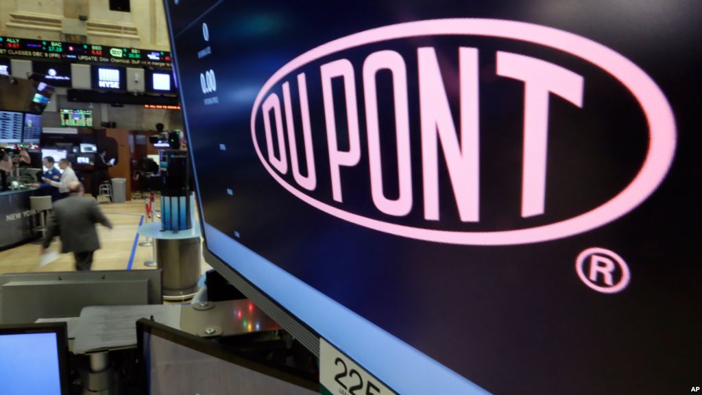
[[[154, 206], [157, 205], [158, 199], [154, 202]], [[151, 267], [145, 266], [144, 262], [152, 259], [153, 249], [138, 245], [144, 238], [137, 237], [140, 221], [147, 221], [144, 201], [133, 199], [125, 203], [100, 203], [100, 209], [107, 219], [110, 219], [114, 228], [110, 230], [98, 225], [102, 247], [95, 252], [92, 270], [150, 269]], [[60, 240], [55, 238], [51, 248], [60, 252], [60, 246]], [[40, 252], [41, 245], [32, 243], [0, 251], [0, 274], [75, 270], [73, 254], [60, 254], [55, 261], [39, 267]], [[201, 259], [200, 265], [203, 273], [210, 268], [204, 259]]]

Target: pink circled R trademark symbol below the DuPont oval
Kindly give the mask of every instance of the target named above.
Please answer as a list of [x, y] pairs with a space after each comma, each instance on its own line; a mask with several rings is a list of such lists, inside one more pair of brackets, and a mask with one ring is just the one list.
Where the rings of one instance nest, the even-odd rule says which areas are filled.
[[629, 266], [616, 252], [592, 247], [578, 254], [575, 261], [578, 277], [597, 292], [614, 294], [629, 285]]

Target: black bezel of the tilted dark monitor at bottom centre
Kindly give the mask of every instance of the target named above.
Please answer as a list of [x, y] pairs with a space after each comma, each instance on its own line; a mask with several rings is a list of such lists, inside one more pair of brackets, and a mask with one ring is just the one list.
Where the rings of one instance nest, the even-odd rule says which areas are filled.
[[140, 382], [141, 389], [143, 390], [144, 394], [149, 394], [150, 391], [150, 382], [148, 380], [149, 373], [147, 371], [147, 348], [144, 344], [145, 333], [148, 333], [151, 336], [161, 337], [161, 339], [166, 339], [182, 347], [199, 351], [213, 358], [220, 359], [221, 361], [233, 363], [234, 365], [239, 365], [242, 368], [253, 370], [284, 382], [289, 382], [290, 384], [297, 385], [298, 387], [310, 389], [311, 391], [319, 391], [319, 380], [314, 380], [312, 377], [301, 377], [299, 375], [294, 375], [293, 373], [271, 368], [263, 363], [251, 361], [250, 359], [244, 358], [234, 354], [232, 351], [224, 349], [217, 342], [213, 342], [212, 340], [204, 339], [202, 337], [197, 337], [195, 335], [190, 335], [190, 333], [176, 330], [147, 318], [140, 318], [140, 320], [136, 322], [136, 332], [138, 350], [137, 355], [140, 356], [140, 363], [142, 365], [142, 368], [140, 368]]

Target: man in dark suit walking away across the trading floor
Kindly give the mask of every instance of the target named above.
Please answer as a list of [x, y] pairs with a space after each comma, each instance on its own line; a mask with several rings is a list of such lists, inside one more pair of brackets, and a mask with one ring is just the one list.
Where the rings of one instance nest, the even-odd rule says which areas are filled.
[[46, 237], [41, 253], [51, 244], [55, 235], [61, 238], [61, 252], [73, 252], [76, 269], [88, 271], [93, 264], [93, 252], [100, 248], [95, 224], [112, 229], [112, 224], [102, 214], [98, 202], [83, 197], [83, 184], [74, 181], [68, 184], [69, 195], [53, 204]]

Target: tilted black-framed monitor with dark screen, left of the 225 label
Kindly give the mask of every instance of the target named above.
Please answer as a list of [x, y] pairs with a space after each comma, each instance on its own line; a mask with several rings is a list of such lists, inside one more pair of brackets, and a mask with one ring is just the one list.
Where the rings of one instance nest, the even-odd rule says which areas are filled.
[[211, 339], [145, 318], [136, 327], [144, 394], [319, 394], [319, 381], [313, 377], [242, 358]]

